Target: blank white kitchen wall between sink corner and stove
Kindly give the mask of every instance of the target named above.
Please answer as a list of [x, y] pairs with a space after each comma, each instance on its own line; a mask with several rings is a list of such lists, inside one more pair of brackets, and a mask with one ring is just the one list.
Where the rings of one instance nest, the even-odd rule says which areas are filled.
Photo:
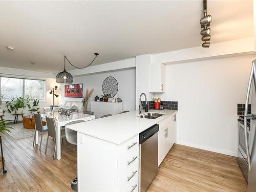
[[177, 143], [237, 155], [237, 103], [245, 103], [254, 55], [166, 66], [163, 100], [178, 101]]

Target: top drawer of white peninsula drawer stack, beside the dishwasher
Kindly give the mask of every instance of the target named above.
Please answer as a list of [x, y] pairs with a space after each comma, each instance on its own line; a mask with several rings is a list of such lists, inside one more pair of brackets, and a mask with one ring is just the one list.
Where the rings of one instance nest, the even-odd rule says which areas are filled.
[[133, 138], [125, 141], [124, 143], [118, 146], [118, 159], [126, 156], [134, 148], [139, 146], [139, 135], [134, 136]]

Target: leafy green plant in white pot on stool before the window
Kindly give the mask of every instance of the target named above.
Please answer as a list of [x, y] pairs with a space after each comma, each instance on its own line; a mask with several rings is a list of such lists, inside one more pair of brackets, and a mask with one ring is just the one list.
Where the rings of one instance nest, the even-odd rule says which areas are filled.
[[12, 113], [15, 111], [15, 113], [23, 113], [23, 110], [26, 106], [30, 109], [30, 99], [26, 98], [24, 99], [23, 97], [18, 97], [18, 98], [12, 98], [10, 101], [6, 101], [6, 108], [9, 113]]

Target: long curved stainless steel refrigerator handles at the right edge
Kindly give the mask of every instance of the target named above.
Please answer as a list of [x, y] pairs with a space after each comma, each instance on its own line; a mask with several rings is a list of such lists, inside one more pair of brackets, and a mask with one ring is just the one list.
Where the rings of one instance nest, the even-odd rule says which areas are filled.
[[[256, 82], [255, 81], [256, 71], [255, 71], [254, 61], [255, 60], [252, 61], [250, 79], [249, 79], [248, 88], [247, 88], [245, 110], [244, 110], [244, 122], [245, 122], [245, 124], [247, 122], [248, 104], [249, 104], [249, 96], [250, 96], [250, 89], [251, 89], [252, 79], [254, 80], [254, 86], [255, 86], [255, 82]], [[247, 127], [247, 126], [245, 126], [245, 127]], [[250, 171], [251, 170], [251, 159], [250, 159], [250, 151], [249, 151], [249, 142], [248, 142], [248, 136], [247, 136], [247, 129], [244, 129], [244, 137], [245, 137], [245, 145], [246, 145], [246, 155], [247, 155], [247, 159], [248, 159], [248, 167], [249, 167], [249, 171]]]

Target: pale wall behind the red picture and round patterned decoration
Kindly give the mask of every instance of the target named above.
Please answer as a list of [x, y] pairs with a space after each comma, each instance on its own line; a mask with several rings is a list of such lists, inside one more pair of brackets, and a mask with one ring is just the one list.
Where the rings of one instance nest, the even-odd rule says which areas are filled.
[[[100, 66], [98, 66], [100, 67]], [[121, 71], [105, 72], [98, 74], [89, 74], [84, 76], [74, 77], [74, 83], [83, 84], [83, 94], [86, 92], [86, 89], [89, 91], [94, 88], [94, 92], [90, 101], [94, 100], [94, 97], [98, 95], [101, 97], [102, 92], [102, 83], [106, 77], [113, 76], [118, 82], [118, 92], [115, 98], [120, 97], [123, 101], [123, 110], [132, 111], [135, 110], [135, 89], [136, 89], [136, 71], [135, 69], [127, 69]], [[64, 96], [64, 84], [61, 84], [61, 99], [63, 100], [75, 100], [82, 101], [82, 98], [69, 98]], [[112, 99], [109, 99], [109, 102]], [[88, 110], [91, 110], [90, 103], [88, 104]]]

